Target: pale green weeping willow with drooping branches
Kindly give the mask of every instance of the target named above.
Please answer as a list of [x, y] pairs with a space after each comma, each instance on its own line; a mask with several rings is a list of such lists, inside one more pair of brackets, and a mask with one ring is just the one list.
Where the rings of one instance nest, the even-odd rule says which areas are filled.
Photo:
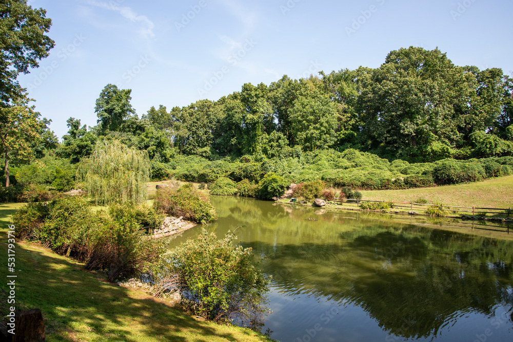
[[128, 147], [119, 141], [99, 142], [77, 170], [96, 205], [132, 201], [141, 203], [148, 197], [150, 161], [146, 151]]

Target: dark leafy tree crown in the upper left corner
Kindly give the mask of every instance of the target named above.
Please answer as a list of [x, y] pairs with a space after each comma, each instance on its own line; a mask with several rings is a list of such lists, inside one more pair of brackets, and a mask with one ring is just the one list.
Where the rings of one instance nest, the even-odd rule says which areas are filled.
[[16, 78], [27, 74], [29, 68], [37, 68], [38, 61], [48, 56], [54, 41], [45, 33], [51, 25], [46, 11], [32, 8], [26, 0], [0, 3], [0, 106], [24, 97]]

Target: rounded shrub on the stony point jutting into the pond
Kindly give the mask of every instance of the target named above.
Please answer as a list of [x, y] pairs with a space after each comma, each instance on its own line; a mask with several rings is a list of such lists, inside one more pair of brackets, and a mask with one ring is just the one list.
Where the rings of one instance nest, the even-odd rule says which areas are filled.
[[183, 216], [186, 220], [201, 224], [216, 219], [214, 207], [208, 197], [194, 189], [192, 184], [184, 184], [178, 189], [158, 189], [153, 206], [168, 215]]

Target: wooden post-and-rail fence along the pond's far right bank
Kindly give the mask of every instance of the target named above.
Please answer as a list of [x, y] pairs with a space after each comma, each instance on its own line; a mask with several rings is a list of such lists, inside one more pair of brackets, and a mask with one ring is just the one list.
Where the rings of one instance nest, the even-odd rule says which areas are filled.
[[[496, 215], [498, 213], [507, 214], [510, 217], [513, 214], [513, 209], [511, 208], [481, 208], [481, 207], [461, 207], [456, 205], [445, 205], [445, 204], [429, 204], [429, 203], [414, 203], [414, 202], [390, 202], [390, 201], [373, 201], [373, 200], [358, 200], [358, 199], [347, 199], [347, 198], [334, 198], [334, 201], [338, 201], [340, 203], [352, 203], [356, 204], [357, 207], [360, 207], [360, 203], [362, 202], [373, 202], [373, 203], [388, 203], [390, 208], [398, 207], [398, 208], [409, 208], [413, 209], [421, 209], [426, 210], [425, 207], [431, 208], [440, 208], [440, 210], [447, 210], [452, 212], [468, 212], [472, 213], [472, 216], [482, 215], [482, 214], [492, 214]], [[406, 204], [406, 205], [402, 205]], [[471, 209], [471, 210], [462, 210], [462, 209]]]

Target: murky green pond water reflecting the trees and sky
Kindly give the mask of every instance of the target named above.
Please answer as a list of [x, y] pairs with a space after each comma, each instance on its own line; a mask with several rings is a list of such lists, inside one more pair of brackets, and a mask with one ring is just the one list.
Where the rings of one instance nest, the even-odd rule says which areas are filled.
[[[273, 312], [263, 331], [274, 339], [513, 340], [507, 226], [210, 201], [219, 219], [208, 230], [222, 238], [245, 225], [236, 231], [240, 243], [266, 258]], [[201, 229], [170, 239], [170, 247]]]

